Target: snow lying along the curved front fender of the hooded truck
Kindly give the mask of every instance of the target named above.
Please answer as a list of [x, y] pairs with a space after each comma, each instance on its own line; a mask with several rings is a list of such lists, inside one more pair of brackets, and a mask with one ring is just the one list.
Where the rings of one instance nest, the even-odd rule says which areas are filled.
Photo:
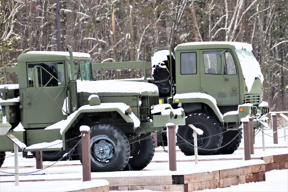
[[[77, 111], [75, 111], [71, 115], [69, 115], [66, 120], [62, 120], [62, 121], [59, 121], [59, 122], [57, 122], [51, 126], [48, 126], [45, 128], [45, 130], [60, 129], [60, 133], [62, 134], [63, 131], [65, 130], [65, 128], [72, 121], [73, 117], [75, 117], [81, 109], [107, 109], [107, 108], [118, 108], [123, 113], [125, 113], [125, 110], [127, 110], [129, 108], [129, 106], [126, 105], [125, 103], [101, 103], [100, 105], [95, 105], [95, 106], [83, 105]], [[131, 114], [129, 114], [129, 117], [134, 122], [134, 128], [137, 128], [140, 126], [140, 120], [138, 119], [138, 117], [136, 117], [136, 115], [134, 115], [133, 112]]]

